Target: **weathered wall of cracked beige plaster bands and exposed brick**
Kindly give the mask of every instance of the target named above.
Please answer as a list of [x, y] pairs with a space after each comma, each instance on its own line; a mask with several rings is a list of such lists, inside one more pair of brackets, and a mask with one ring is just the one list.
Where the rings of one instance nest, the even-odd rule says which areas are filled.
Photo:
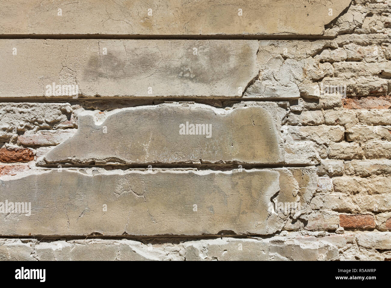
[[0, 259], [391, 259], [391, 3], [16, 2]]

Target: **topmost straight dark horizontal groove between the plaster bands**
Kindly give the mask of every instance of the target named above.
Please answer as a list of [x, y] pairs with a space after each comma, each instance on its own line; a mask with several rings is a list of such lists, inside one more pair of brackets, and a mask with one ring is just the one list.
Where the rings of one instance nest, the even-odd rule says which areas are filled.
[[321, 35], [127, 35], [127, 34], [1, 34], [0, 39], [108, 40], [333, 40]]

